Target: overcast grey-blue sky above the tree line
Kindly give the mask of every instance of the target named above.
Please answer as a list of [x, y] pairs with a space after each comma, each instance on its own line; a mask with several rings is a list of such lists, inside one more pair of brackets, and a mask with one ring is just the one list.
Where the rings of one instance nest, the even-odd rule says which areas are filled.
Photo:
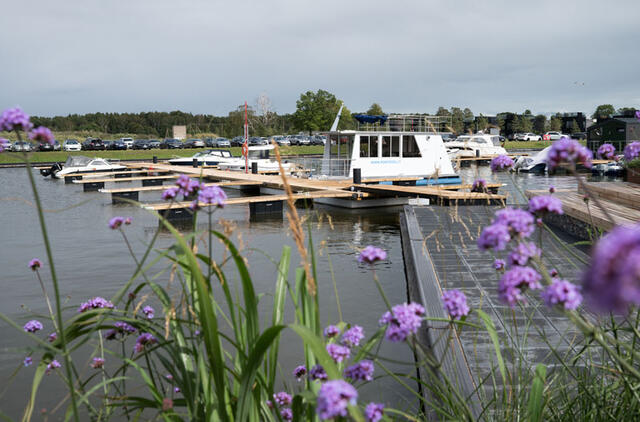
[[0, 107], [33, 115], [640, 106], [640, 1], [28, 0], [0, 15]]

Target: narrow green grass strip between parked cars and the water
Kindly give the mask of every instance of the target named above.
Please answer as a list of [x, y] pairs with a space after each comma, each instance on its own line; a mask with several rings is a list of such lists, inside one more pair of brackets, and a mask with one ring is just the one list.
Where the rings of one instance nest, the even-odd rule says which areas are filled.
[[[36, 163], [53, 163], [64, 162], [69, 155], [86, 155], [87, 157], [101, 157], [107, 159], [117, 160], [150, 160], [154, 156], [163, 160], [167, 158], [176, 157], [191, 157], [198, 151], [203, 151], [208, 148], [194, 148], [194, 149], [153, 149], [148, 151], [143, 150], [127, 150], [127, 151], [80, 151], [80, 152], [64, 152], [64, 151], [52, 151], [52, 152], [31, 152], [29, 153], [31, 161]], [[227, 149], [227, 148], [225, 148]], [[234, 147], [228, 148], [234, 156], [241, 155], [241, 148]], [[285, 156], [303, 156], [312, 154], [322, 154], [322, 146], [295, 146], [295, 147], [282, 147], [280, 149]], [[22, 163], [22, 153], [5, 153], [0, 154], [0, 164], [13, 164]]]

